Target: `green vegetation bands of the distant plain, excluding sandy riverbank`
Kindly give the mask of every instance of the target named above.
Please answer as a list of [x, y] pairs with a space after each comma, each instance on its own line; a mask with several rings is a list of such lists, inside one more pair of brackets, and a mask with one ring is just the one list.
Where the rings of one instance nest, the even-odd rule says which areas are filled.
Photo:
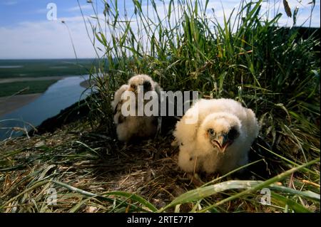
[[[59, 76], [86, 75], [97, 66], [95, 59], [0, 60], [0, 80], [17, 78], [19, 82], [0, 83], [0, 97], [43, 93]], [[24, 78], [55, 77], [52, 80], [24, 81]], [[21, 80], [21, 82], [20, 82]], [[20, 93], [19, 93], [20, 94]]]

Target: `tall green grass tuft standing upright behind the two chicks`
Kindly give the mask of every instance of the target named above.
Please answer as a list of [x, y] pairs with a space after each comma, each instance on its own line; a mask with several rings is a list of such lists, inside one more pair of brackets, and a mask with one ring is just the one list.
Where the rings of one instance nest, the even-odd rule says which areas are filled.
[[[132, 75], [147, 73], [164, 90], [198, 90], [253, 108], [261, 125], [254, 149], [270, 159], [270, 172], [280, 174], [320, 157], [317, 31], [302, 35], [300, 27], [278, 26], [282, 14], [267, 16], [262, 0], [240, 1], [223, 21], [208, 8], [209, 1], [131, 3], [132, 14], [126, 7], [121, 11], [118, 1], [103, 1], [103, 9], [93, 4], [96, 16], [87, 23], [101, 58], [102, 76], [92, 78], [101, 92], [101, 99], [93, 100], [95, 120], [106, 125], [108, 119], [112, 129], [113, 92]], [[320, 184], [320, 171], [307, 170], [300, 177]]]

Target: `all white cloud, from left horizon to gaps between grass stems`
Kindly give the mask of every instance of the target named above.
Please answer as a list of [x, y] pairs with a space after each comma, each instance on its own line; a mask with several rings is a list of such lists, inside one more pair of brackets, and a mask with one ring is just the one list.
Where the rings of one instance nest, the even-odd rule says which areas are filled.
[[[215, 2], [209, 1], [207, 16], [213, 19], [213, 11], [211, 10], [211, 8], [214, 8], [215, 16], [218, 17], [218, 21], [222, 23], [222, 5], [219, 1]], [[235, 0], [224, 1], [223, 7], [225, 10], [225, 14], [229, 16], [234, 7], [236, 7], [235, 10], [237, 10], [238, 3], [239, 1]], [[291, 9], [295, 9], [295, 3], [297, 4], [296, 0], [289, 1]], [[84, 6], [86, 6], [86, 8], [88, 8], [88, 6], [91, 7], [91, 5]], [[165, 6], [167, 6], [167, 3], [165, 3]], [[263, 4], [262, 12], [266, 11], [266, 7], [267, 6]], [[297, 21], [298, 26], [300, 26], [301, 23], [303, 23], [305, 19], [308, 19], [310, 16], [310, 11], [307, 10], [310, 9], [310, 5], [302, 3], [302, 5], [299, 5], [299, 7], [300, 10]], [[161, 17], [161, 19], [163, 19], [166, 14], [163, 9], [163, 3], [159, 4], [157, 8], [159, 16]], [[128, 13], [129, 11], [132, 11], [132, 9], [127, 9]], [[72, 8], [68, 10], [72, 10]], [[143, 10], [147, 12], [147, 7], [143, 6]], [[149, 15], [153, 19], [153, 14], [151, 14], [151, 7], [148, 10], [150, 13]], [[280, 19], [280, 24], [291, 26], [292, 19], [285, 16], [282, 4], [280, 4], [279, 10], [281, 13], [283, 13], [282, 18]], [[273, 11], [271, 11], [270, 15], [272, 15], [272, 13]], [[131, 15], [128, 14], [128, 16], [129, 18], [131, 18]], [[103, 18], [103, 15], [99, 14], [98, 18]], [[121, 16], [118, 20], [121, 21], [125, 19], [123, 18], [123, 16]], [[24, 23], [19, 23], [18, 26], [0, 27], [0, 58], [74, 58], [75, 56], [73, 54], [70, 37], [68, 35], [68, 29], [63, 23], [61, 23], [61, 21], [65, 21], [66, 25], [71, 31], [71, 36], [73, 38], [73, 43], [75, 45], [78, 58], [95, 57], [95, 51], [86, 33], [86, 28], [82, 16], [74, 16], [60, 18], [58, 21], [26, 21]], [[133, 28], [133, 32], [136, 33], [138, 24], [136, 23], [135, 18], [133, 18], [133, 22], [134, 23], [131, 23], [131, 26]], [[170, 23], [174, 23], [173, 14]], [[317, 1], [315, 7], [315, 12], [312, 17], [312, 26], [320, 27], [320, 1]], [[89, 24], [88, 32], [92, 38], [93, 34]], [[107, 40], [110, 40], [110, 35], [107, 34], [106, 38]], [[143, 43], [146, 43], [146, 48], [148, 48], [148, 42], [145, 42], [146, 37], [143, 37], [143, 39]], [[96, 41], [96, 43], [98, 42]], [[101, 52], [99, 53], [102, 55]]]

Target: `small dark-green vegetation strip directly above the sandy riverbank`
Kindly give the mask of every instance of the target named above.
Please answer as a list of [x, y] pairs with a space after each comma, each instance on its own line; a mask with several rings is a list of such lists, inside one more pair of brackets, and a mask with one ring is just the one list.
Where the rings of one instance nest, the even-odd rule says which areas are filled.
[[0, 83], [0, 97], [10, 95], [24, 95], [44, 93], [50, 85], [57, 80], [21, 81], [13, 83]]

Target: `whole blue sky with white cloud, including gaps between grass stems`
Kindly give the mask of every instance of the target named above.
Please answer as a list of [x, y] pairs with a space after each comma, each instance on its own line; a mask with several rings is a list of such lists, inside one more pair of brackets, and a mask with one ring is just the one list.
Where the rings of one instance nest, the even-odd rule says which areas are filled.
[[[83, 13], [86, 16], [92, 15], [91, 5], [85, 0], [79, 1]], [[97, 1], [101, 2], [101, 0]], [[275, 1], [280, 4], [280, 12], [284, 14], [281, 0], [270, 0], [270, 4]], [[295, 6], [300, 8], [297, 25], [301, 25], [310, 15], [310, 5], [307, 4], [310, 1], [288, 0], [291, 9], [295, 9]], [[214, 8], [215, 15], [221, 19], [223, 16], [222, 5], [225, 14], [229, 14], [235, 6], [238, 6], [239, 2], [238, 0], [210, 0], [208, 8]], [[58, 20], [56, 21], [47, 19], [49, 9], [46, 7], [49, 3], [54, 3], [57, 6]], [[163, 5], [158, 0], [156, 3], [160, 6]], [[123, 0], [118, 1], [118, 8], [124, 9], [123, 4]], [[265, 5], [268, 5], [268, 1]], [[131, 1], [126, 1], [126, 9], [128, 14], [131, 14], [131, 9], [133, 9]], [[94, 57], [94, 49], [87, 36], [76, 0], [0, 0], [0, 59], [74, 58], [68, 30], [61, 20], [68, 24], [78, 58]], [[292, 19], [287, 18], [284, 14], [280, 23], [291, 26]], [[316, 1], [312, 26], [320, 27], [320, 0]]]

